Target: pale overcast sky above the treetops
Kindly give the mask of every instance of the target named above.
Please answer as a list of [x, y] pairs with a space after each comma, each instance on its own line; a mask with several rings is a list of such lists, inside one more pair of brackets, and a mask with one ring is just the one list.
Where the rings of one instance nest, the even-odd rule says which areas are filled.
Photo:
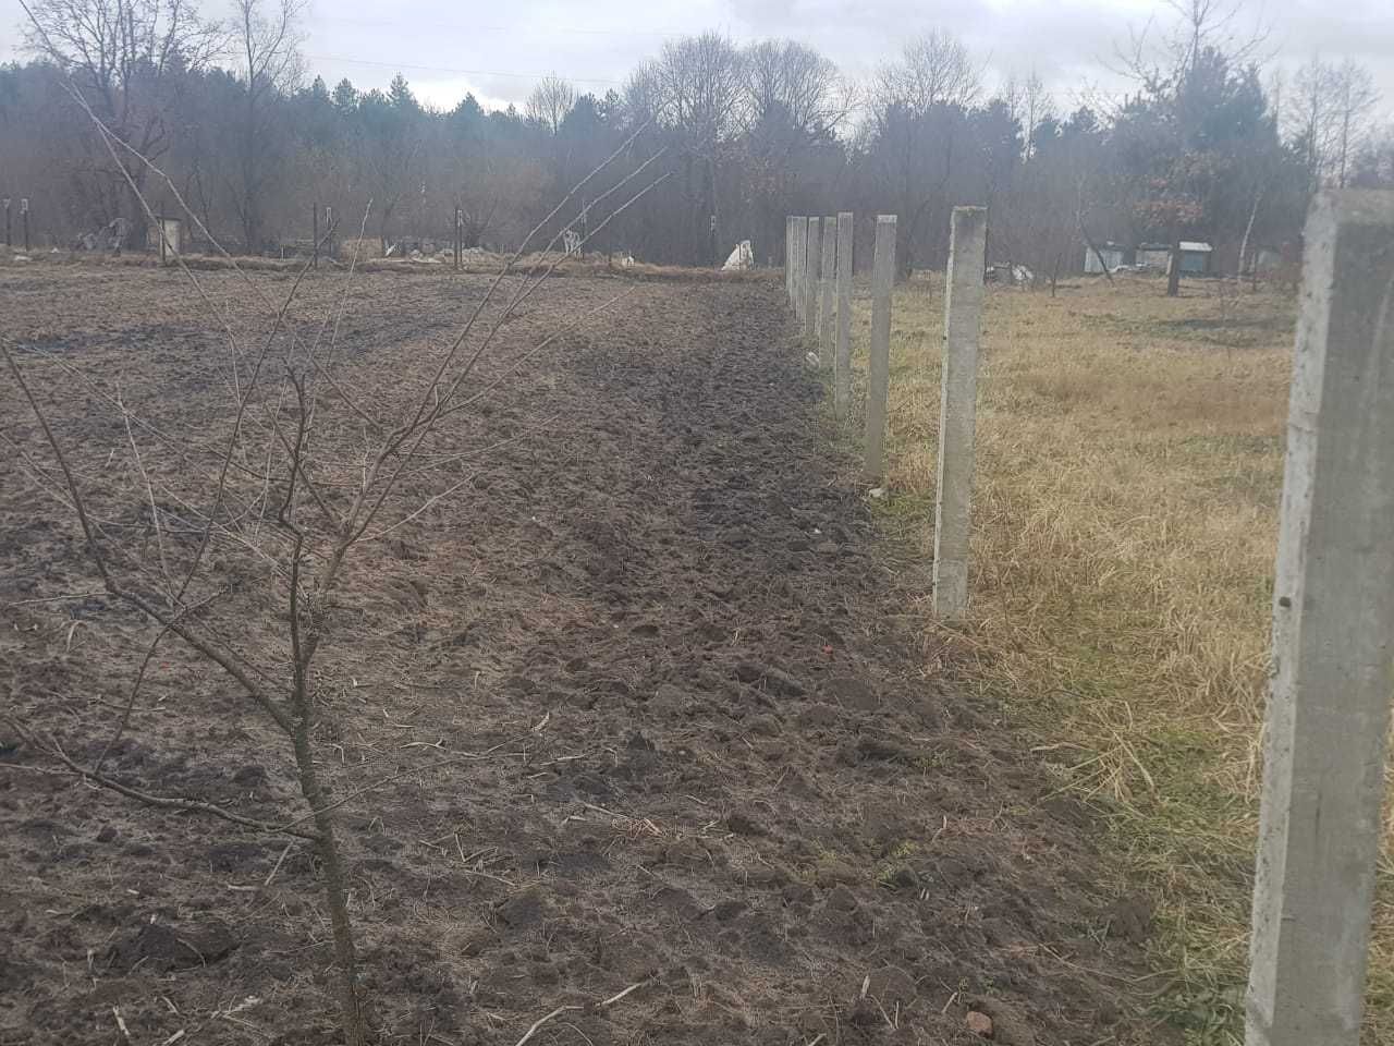
[[[332, 86], [385, 86], [396, 71], [418, 98], [450, 107], [467, 91], [521, 103], [555, 73], [581, 91], [619, 86], [665, 38], [718, 29], [737, 42], [789, 36], [861, 75], [931, 28], [956, 32], [990, 77], [1033, 67], [1057, 105], [1117, 91], [1110, 73], [1129, 26], [1167, 24], [1161, 0], [311, 0], [305, 54]], [[204, 0], [217, 11], [226, 0]], [[18, 0], [0, 0], [0, 60], [20, 57]], [[1292, 66], [1313, 52], [1369, 67], [1394, 119], [1394, 0], [1246, 0], [1239, 32], [1262, 25], [1264, 57]]]

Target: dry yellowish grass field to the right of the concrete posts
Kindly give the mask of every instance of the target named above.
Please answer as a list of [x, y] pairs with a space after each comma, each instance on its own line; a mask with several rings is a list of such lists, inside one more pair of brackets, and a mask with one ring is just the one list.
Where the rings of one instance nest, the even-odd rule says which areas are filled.
[[[870, 303], [853, 322], [864, 374]], [[1157, 911], [1156, 1000], [1242, 1040], [1291, 294], [1142, 278], [993, 289], [965, 682], [1039, 736]], [[941, 282], [895, 297], [884, 522], [933, 548]], [[1365, 1042], [1394, 1043], [1381, 876]]]

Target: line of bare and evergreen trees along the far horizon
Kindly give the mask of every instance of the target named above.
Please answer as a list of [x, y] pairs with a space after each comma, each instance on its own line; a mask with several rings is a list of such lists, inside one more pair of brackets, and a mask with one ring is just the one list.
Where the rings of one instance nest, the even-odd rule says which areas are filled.
[[32, 57], [0, 67], [0, 195], [29, 198], [57, 245], [110, 227], [139, 245], [139, 191], [171, 215], [177, 192], [245, 252], [307, 240], [316, 204], [340, 237], [367, 216], [385, 244], [447, 244], [459, 208], [466, 247], [509, 250], [629, 141], [556, 219], [648, 162], [597, 219], [659, 184], [592, 248], [712, 265], [749, 238], [781, 264], [785, 215], [881, 212], [899, 215], [902, 268], [934, 268], [949, 209], [981, 204], [993, 261], [1048, 273], [1104, 241], [1181, 238], [1211, 241], [1217, 268], [1238, 271], [1294, 243], [1323, 185], [1394, 184], [1394, 131], [1366, 70], [1315, 57], [1287, 79], [1266, 73], [1203, 0], [1132, 42], [1122, 102], [1071, 112], [1036, 75], [990, 86], [949, 32], [916, 38], [866, 82], [800, 43], [704, 33], [604, 96], [549, 77], [521, 112], [473, 95], [443, 112], [400, 74], [386, 91], [308, 78], [302, 4], [238, 0], [230, 22], [167, 0], [31, 4]]

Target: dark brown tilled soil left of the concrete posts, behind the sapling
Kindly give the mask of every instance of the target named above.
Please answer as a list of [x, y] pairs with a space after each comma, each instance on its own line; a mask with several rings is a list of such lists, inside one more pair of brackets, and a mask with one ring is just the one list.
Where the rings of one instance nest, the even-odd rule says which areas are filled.
[[[339, 286], [307, 283], [307, 314]], [[482, 286], [364, 276], [346, 381], [392, 402]], [[499, 357], [615, 293], [549, 285]], [[224, 411], [176, 273], [0, 269], [0, 298], [85, 483], [125, 432], [54, 357], [190, 445]], [[1087, 812], [949, 682], [926, 568], [878, 541], [779, 298], [636, 287], [506, 381], [459, 441], [507, 442], [355, 562], [318, 741], [337, 795], [395, 778], [342, 809], [381, 1042], [512, 1045], [566, 1004], [533, 1043], [980, 1042], [970, 1010], [1018, 1046], [1156, 1040], [1129, 994], [1146, 911], [1107, 888]], [[0, 448], [6, 710], [89, 761], [151, 628], [86, 596], [8, 375], [0, 427], [32, 455]], [[102, 509], [139, 519], [128, 498]], [[277, 657], [255, 576], [227, 591], [210, 614]], [[176, 644], [107, 767], [304, 813], [284, 742]], [[124, 1042], [117, 1013], [138, 1046], [336, 1042], [308, 844], [93, 788], [4, 727], [0, 824], [0, 1043]]]

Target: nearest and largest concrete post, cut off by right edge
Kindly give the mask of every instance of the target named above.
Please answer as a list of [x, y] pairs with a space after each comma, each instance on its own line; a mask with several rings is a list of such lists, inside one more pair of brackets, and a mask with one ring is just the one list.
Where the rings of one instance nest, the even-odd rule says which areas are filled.
[[1394, 693], [1394, 192], [1316, 198], [1273, 589], [1248, 1046], [1356, 1046]]

